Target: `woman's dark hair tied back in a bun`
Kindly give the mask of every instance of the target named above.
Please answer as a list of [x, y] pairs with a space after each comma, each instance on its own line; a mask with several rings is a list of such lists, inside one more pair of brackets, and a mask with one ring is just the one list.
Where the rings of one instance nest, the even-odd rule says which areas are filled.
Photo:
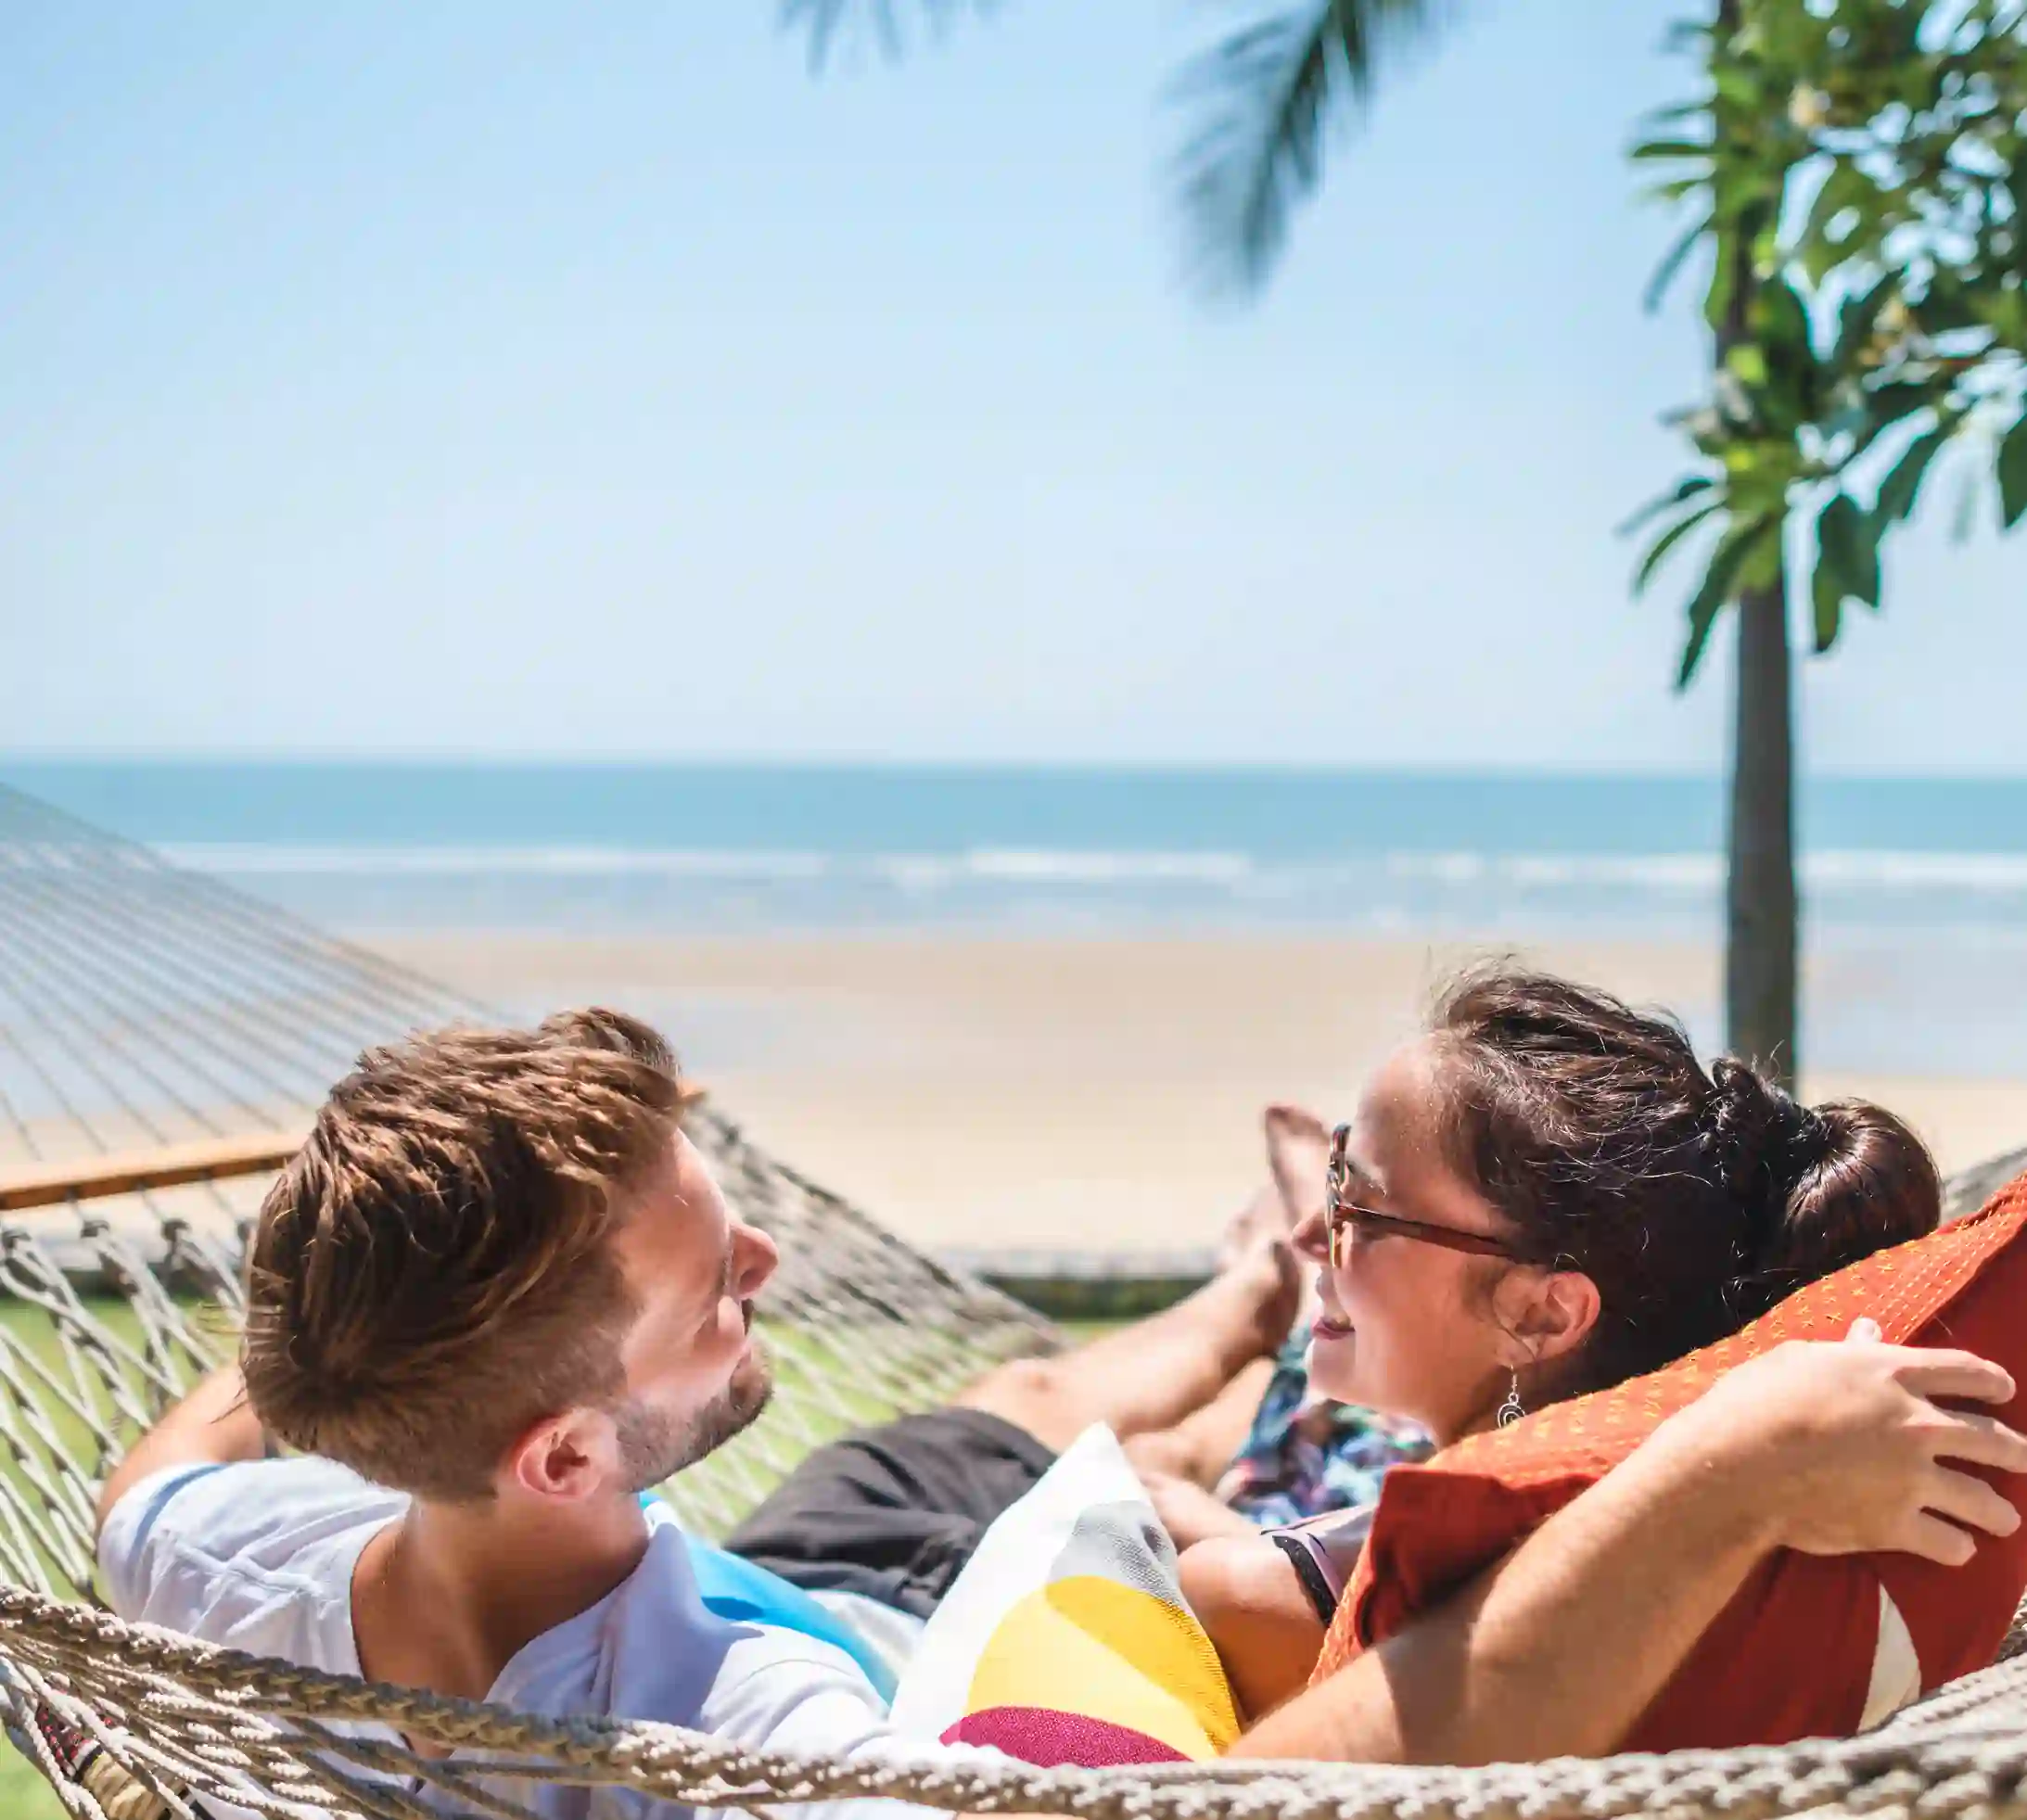
[[1680, 1023], [1609, 993], [1470, 973], [1431, 1034], [1451, 1165], [1524, 1259], [1597, 1285], [1563, 1394], [1668, 1364], [1940, 1218], [1936, 1161], [1891, 1113], [1796, 1105], [1745, 1062], [1705, 1072]]

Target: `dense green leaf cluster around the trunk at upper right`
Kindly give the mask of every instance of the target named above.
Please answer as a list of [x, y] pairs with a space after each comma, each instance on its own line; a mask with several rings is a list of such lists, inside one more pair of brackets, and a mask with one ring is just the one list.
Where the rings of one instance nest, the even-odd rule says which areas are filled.
[[1638, 572], [1646, 586], [1705, 533], [1682, 681], [1723, 608], [1790, 559], [1816, 651], [1849, 606], [1877, 610], [1883, 545], [1946, 454], [1960, 519], [1980, 486], [2003, 525], [2027, 513], [2027, 6], [1737, 14], [1680, 28], [1709, 89], [1634, 152], [1662, 170], [1656, 195], [1695, 209], [1656, 292], [1705, 249], [1725, 343], [1709, 399], [1678, 418], [1695, 470], [1650, 507]]

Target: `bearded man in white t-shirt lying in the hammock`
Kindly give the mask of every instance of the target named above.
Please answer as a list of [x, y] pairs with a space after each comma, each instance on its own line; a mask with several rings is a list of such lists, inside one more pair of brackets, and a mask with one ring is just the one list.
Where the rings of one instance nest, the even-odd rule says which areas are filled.
[[[639, 1498], [750, 1423], [768, 1390], [750, 1328], [774, 1244], [728, 1216], [681, 1133], [683, 1098], [661, 1038], [606, 1011], [365, 1056], [261, 1208], [243, 1384], [237, 1370], [203, 1384], [105, 1486], [114, 1607], [539, 1713], [657, 1719], [760, 1749], [896, 1749], [849, 1648], [716, 1613], [685, 1538]], [[1210, 1382], [1261, 1344], [1249, 1321], [1285, 1319], [1269, 1277], [1273, 1259], [1220, 1279], [1135, 1350], [1182, 1358], [1226, 1334]], [[941, 1429], [902, 1425], [890, 1463], [920, 1463], [941, 1437], [953, 1475], [971, 1459], [991, 1475], [1020, 1453], [1009, 1411], [1036, 1411], [1040, 1429], [1076, 1421], [1088, 1376], [1001, 1376]], [[1143, 1378], [1125, 1384], [1129, 1409], [1166, 1415]], [[1966, 1559], [1970, 1528], [2011, 1528], [2005, 1500], [1942, 1461], [2027, 1469], [2027, 1441], [1928, 1400], [2011, 1394], [2003, 1370], [1962, 1354], [1759, 1360], [1238, 1751], [1609, 1749], [1770, 1548]], [[266, 1457], [268, 1435], [306, 1457]], [[1046, 1455], [1032, 1435], [1030, 1449]], [[1585, 1621], [1597, 1611], [1613, 1621]], [[553, 1816], [639, 1810], [612, 1790], [533, 1800]]]

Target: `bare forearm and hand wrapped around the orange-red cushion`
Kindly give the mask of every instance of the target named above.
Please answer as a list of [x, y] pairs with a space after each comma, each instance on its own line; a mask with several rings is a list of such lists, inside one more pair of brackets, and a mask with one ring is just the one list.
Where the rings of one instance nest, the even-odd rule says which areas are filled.
[[2019, 1514], [1944, 1461], [2027, 1471], [1960, 1352], [1790, 1344], [1664, 1423], [1455, 1599], [1271, 1713], [1236, 1757], [1492, 1763], [1601, 1755], [1772, 1548], [1970, 1559]]

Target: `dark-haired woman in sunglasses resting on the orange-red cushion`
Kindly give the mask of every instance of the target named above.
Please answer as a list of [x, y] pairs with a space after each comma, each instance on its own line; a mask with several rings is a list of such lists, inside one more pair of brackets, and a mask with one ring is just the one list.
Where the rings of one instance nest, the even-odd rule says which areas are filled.
[[[1656, 1370], [1934, 1230], [1891, 1113], [1806, 1109], [1680, 1026], [1549, 975], [1461, 979], [1372, 1078], [1301, 1224], [1313, 1388], [1439, 1445]], [[1184, 1591], [1261, 1715], [1305, 1684], [1366, 1510], [1212, 1536]]]

